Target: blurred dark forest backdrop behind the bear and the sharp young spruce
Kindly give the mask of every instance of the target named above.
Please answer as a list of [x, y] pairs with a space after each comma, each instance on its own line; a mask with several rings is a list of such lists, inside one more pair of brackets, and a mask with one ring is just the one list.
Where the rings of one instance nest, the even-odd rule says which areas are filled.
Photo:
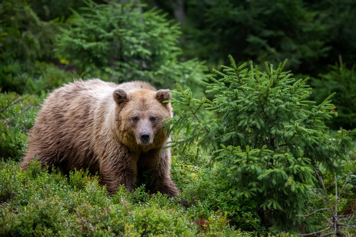
[[[133, 3], [133, 5], [132, 5]], [[231, 54], [310, 76], [312, 99], [336, 92], [333, 129], [356, 126], [353, 0], [4, 0], [1, 90], [32, 93], [74, 77], [195, 88]]]

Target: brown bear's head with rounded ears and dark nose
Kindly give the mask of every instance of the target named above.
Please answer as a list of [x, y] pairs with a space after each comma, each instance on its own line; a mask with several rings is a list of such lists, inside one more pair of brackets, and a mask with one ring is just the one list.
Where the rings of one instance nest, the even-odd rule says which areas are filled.
[[116, 123], [119, 139], [131, 147], [162, 146], [167, 140], [162, 120], [172, 117], [172, 97], [169, 90], [136, 90], [126, 92], [117, 88], [113, 93], [116, 102]]

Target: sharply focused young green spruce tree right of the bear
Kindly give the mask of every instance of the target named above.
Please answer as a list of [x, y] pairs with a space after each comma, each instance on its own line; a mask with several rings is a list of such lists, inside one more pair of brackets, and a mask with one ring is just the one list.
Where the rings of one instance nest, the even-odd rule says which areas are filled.
[[[187, 131], [187, 138], [172, 142], [184, 152], [198, 141], [214, 151], [214, 174], [227, 180], [227, 190], [237, 199], [257, 202], [260, 218], [271, 231], [296, 230], [310, 185], [316, 183], [314, 168], [332, 170], [342, 160], [356, 129], [338, 140], [329, 140], [325, 119], [333, 114], [330, 95], [320, 105], [308, 101], [312, 89], [307, 79], [295, 80], [266, 63], [266, 72], [246, 63], [215, 70], [221, 79], [210, 78], [206, 93], [195, 99], [177, 84], [180, 99], [172, 99], [177, 116], [170, 131]], [[305, 107], [312, 106], [311, 110]], [[209, 113], [209, 111], [212, 111]]]

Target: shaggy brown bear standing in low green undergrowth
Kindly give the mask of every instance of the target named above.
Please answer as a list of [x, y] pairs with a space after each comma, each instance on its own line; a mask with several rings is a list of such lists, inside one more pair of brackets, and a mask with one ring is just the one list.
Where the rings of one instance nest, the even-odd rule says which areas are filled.
[[114, 194], [132, 191], [142, 172], [151, 172], [152, 192], [178, 195], [170, 177], [171, 153], [162, 127], [172, 117], [168, 90], [142, 81], [115, 84], [75, 80], [49, 94], [29, 134], [22, 167], [38, 161], [67, 170], [99, 171]]

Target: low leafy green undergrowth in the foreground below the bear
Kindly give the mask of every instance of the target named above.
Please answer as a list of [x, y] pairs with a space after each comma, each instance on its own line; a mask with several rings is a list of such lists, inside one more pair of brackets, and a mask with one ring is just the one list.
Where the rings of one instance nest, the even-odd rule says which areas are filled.
[[0, 203], [2, 236], [260, 236], [235, 230], [221, 211], [197, 219], [193, 206], [143, 186], [109, 196], [98, 176], [80, 170], [65, 177], [38, 161], [28, 171], [0, 162]]

